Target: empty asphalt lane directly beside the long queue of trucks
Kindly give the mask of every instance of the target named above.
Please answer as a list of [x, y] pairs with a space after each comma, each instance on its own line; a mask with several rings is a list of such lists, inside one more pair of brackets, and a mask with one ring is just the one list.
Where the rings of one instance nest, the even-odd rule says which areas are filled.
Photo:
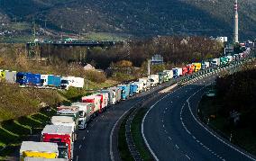
[[113, 105], [89, 122], [86, 130], [79, 130], [78, 140], [74, 148], [74, 160], [111, 160], [110, 134], [114, 123], [133, 105], [139, 103], [148, 94], [155, 93], [161, 87], [162, 85], [154, 87], [149, 92], [138, 94], [129, 100]]

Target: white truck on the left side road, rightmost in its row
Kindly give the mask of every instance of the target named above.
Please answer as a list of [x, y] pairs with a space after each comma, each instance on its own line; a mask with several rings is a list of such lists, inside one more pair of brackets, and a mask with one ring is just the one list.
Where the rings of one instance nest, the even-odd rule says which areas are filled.
[[63, 76], [60, 79], [60, 86], [62, 89], [69, 89], [69, 87], [83, 88], [85, 85], [85, 79], [75, 76]]

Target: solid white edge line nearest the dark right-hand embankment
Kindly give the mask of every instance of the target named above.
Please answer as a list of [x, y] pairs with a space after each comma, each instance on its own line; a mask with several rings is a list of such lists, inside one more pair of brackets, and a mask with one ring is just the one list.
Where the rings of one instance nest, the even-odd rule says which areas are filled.
[[224, 143], [224, 145], [228, 146], [229, 148], [233, 148], [233, 150], [239, 152], [239, 153], [242, 154], [243, 156], [248, 157], [248, 158], [250, 158], [251, 160], [256, 161], [256, 158], [253, 158], [253, 157], [251, 157], [251, 156], [245, 154], [244, 152], [242, 152], [242, 151], [239, 150], [238, 148], [234, 148], [233, 145], [231, 145], [230, 143], [225, 142], [224, 139], [221, 139], [221, 138], [219, 138], [218, 136], [216, 136], [212, 131], [208, 130], [200, 121], [197, 120], [196, 116], [194, 115], [194, 113], [193, 113], [192, 110], [191, 110], [191, 106], [190, 106], [189, 100], [190, 100], [190, 98], [191, 98], [192, 96], [194, 96], [195, 94], [197, 94], [199, 91], [201, 91], [201, 90], [204, 89], [204, 88], [206, 88], [206, 86], [202, 87], [202, 88], [199, 89], [196, 93], [190, 95], [190, 96], [187, 98], [188, 109], [189, 109], [189, 111], [190, 111], [190, 113], [191, 113], [193, 119], [194, 119], [195, 121], [197, 121], [197, 123], [198, 123], [203, 129], [205, 129], [205, 130], [206, 130], [207, 132], [209, 132], [213, 137], [215, 137], [215, 139], [220, 140], [222, 143]]

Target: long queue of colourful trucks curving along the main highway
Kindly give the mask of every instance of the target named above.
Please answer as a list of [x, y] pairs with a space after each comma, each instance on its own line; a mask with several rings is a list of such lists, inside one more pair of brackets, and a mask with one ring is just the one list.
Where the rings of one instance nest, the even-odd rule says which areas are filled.
[[[246, 53], [243, 53], [242, 58], [245, 57]], [[237, 60], [235, 57], [227, 58], [227, 64]], [[221, 59], [223, 58], [214, 58], [211, 61], [197, 62], [188, 64], [186, 67], [164, 70], [156, 75], [139, 78], [136, 82], [98, 90], [94, 94], [83, 96], [80, 102], [71, 103], [70, 106], [59, 106], [56, 114], [51, 117], [50, 124], [46, 125], [41, 131], [41, 142], [23, 141], [20, 148], [20, 158], [22, 161], [43, 158], [56, 161], [73, 160], [74, 144], [78, 139], [78, 130], [86, 129], [89, 121], [93, 121], [97, 115], [105, 112], [109, 105], [127, 100], [129, 97], [148, 91], [151, 87], [173, 78], [191, 75], [208, 67], [221, 67], [224, 65], [224, 63], [221, 63]], [[3, 76], [2, 71], [0, 71], [0, 76]], [[54, 79], [53, 76], [43, 77], [45, 85], [53, 84], [50, 83], [54, 82], [51, 80]], [[59, 76], [56, 77], [59, 79]]]

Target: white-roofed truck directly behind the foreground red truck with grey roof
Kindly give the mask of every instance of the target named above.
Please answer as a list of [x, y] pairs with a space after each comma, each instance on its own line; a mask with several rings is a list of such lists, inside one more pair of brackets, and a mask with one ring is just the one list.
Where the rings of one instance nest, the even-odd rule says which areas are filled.
[[72, 117], [69, 116], [52, 116], [50, 119], [51, 125], [63, 125], [72, 127], [74, 133], [73, 140], [78, 139], [78, 126]]

